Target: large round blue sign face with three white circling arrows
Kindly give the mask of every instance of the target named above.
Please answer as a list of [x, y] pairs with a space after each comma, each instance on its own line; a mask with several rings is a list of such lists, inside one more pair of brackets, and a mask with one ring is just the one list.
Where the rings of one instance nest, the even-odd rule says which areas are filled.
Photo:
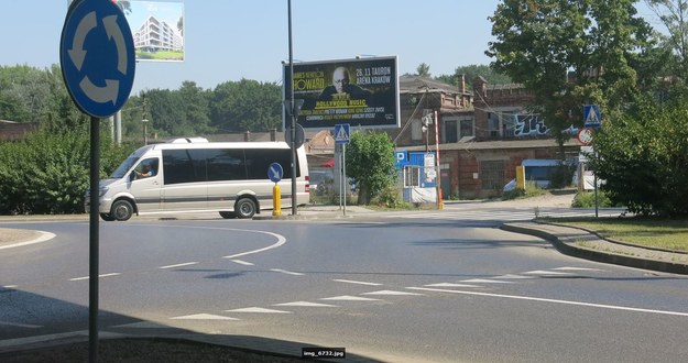
[[83, 112], [107, 118], [119, 111], [136, 66], [131, 29], [119, 7], [106, 0], [73, 4], [62, 30], [59, 63], [69, 96]]

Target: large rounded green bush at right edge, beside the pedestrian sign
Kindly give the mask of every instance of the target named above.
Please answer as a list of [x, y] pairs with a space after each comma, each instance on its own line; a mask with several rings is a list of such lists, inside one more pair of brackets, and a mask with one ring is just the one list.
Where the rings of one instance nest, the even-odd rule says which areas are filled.
[[688, 101], [644, 99], [596, 133], [591, 166], [612, 202], [637, 215], [688, 216]]

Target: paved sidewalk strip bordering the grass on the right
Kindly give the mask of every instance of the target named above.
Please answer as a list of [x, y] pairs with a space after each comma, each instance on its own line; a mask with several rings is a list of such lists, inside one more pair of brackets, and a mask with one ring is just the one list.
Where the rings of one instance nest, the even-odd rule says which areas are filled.
[[510, 232], [535, 235], [549, 241], [559, 252], [580, 258], [688, 275], [688, 254], [634, 246], [605, 240], [593, 231], [537, 222], [505, 223]]

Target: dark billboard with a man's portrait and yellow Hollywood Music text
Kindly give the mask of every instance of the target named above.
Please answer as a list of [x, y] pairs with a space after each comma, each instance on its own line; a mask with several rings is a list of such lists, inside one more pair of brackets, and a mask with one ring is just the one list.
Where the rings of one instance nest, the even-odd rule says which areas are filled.
[[[283, 72], [294, 99], [304, 100], [296, 119], [304, 129], [400, 127], [396, 57], [295, 63], [293, 82], [288, 63]], [[288, 102], [288, 87], [283, 91]]]

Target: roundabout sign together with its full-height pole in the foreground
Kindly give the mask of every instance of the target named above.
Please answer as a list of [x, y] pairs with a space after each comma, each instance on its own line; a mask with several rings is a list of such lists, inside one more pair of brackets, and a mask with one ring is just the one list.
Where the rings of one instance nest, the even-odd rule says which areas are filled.
[[117, 113], [129, 99], [135, 54], [129, 23], [108, 0], [69, 6], [59, 42], [62, 76], [74, 103], [90, 119], [89, 362], [98, 361], [99, 144], [100, 118]]

